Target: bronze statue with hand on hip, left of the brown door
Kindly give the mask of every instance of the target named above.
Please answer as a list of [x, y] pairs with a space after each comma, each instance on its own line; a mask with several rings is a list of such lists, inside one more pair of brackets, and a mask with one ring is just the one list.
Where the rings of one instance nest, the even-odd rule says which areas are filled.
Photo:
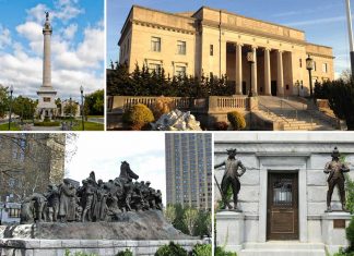
[[[227, 149], [226, 151], [228, 158], [225, 161], [215, 164], [214, 168], [216, 169], [225, 166], [225, 172], [221, 184], [222, 197], [225, 207], [227, 206], [231, 209], [232, 206], [226, 199], [227, 190], [228, 186], [231, 185], [234, 194], [234, 209], [237, 210], [238, 193], [240, 190], [240, 183], [238, 178], [246, 172], [246, 168], [244, 167], [240, 160], [236, 159], [236, 149]], [[240, 168], [240, 172], [238, 172], [238, 168]]]

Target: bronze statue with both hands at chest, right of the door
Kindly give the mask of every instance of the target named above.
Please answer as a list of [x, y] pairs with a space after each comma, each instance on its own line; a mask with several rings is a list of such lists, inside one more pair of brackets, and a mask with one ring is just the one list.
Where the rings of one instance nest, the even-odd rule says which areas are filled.
[[341, 162], [339, 159], [340, 153], [337, 147], [331, 154], [332, 160], [326, 163], [323, 172], [329, 174], [327, 182], [328, 182], [328, 192], [327, 192], [327, 212], [332, 211], [331, 208], [331, 200], [334, 186], [338, 186], [340, 192], [341, 203], [342, 203], [342, 210], [346, 211], [345, 209], [345, 191], [344, 191], [344, 183], [345, 178], [344, 173], [349, 172], [350, 169], [346, 163]]

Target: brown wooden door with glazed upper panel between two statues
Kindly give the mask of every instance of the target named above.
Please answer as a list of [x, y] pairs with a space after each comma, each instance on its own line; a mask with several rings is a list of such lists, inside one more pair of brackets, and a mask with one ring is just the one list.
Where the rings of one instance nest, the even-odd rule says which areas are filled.
[[268, 174], [268, 240], [298, 240], [297, 180], [297, 173]]

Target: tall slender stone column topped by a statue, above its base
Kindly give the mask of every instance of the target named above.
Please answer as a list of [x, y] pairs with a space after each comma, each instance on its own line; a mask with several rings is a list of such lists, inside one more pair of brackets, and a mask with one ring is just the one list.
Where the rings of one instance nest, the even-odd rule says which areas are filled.
[[43, 86], [51, 87], [51, 64], [50, 64], [50, 37], [51, 26], [47, 16], [43, 28], [44, 35], [44, 52], [43, 52]]

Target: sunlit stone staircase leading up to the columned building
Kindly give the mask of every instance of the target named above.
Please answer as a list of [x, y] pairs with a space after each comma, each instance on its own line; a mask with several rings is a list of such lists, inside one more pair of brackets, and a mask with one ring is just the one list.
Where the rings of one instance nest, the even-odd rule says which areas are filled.
[[331, 122], [321, 118], [321, 113], [307, 110], [303, 102], [271, 96], [260, 96], [258, 110], [260, 117], [278, 123], [283, 131], [332, 131]]

